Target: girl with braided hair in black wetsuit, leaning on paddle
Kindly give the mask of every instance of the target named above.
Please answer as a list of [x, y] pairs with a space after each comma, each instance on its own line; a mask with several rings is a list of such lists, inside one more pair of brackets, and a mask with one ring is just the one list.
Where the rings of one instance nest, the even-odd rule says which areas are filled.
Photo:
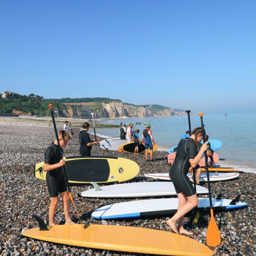
[[[197, 153], [196, 143], [202, 140], [202, 128], [195, 128], [189, 138], [185, 138], [178, 144], [176, 158], [172, 164], [169, 172], [170, 179], [174, 184], [179, 205], [178, 210], [172, 218], [166, 221], [168, 226], [176, 234], [192, 235], [183, 227], [184, 215], [198, 205], [198, 198], [196, 191], [190, 179], [188, 178], [188, 169], [190, 166], [195, 168], [199, 163], [202, 154], [207, 149], [206, 143], [202, 144], [201, 149]], [[178, 230], [176, 228], [176, 221], [178, 220]]]

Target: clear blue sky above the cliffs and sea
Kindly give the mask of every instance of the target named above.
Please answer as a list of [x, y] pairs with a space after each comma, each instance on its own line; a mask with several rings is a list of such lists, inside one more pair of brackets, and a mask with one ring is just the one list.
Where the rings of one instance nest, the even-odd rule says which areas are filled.
[[256, 112], [256, 1], [1, 1], [0, 91]]

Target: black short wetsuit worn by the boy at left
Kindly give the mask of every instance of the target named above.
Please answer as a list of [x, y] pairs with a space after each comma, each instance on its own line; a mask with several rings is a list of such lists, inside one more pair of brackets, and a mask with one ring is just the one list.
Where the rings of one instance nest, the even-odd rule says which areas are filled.
[[[45, 164], [57, 164], [62, 159], [60, 149], [52, 143], [44, 152]], [[62, 167], [48, 171], [46, 173], [46, 184], [50, 197], [56, 197], [59, 193], [67, 190], [66, 180], [62, 172]]]

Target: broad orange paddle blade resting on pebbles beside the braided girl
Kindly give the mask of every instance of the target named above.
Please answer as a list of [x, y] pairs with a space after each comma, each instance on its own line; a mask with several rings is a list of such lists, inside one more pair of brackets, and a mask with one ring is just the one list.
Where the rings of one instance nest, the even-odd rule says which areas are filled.
[[220, 237], [220, 231], [218, 229], [216, 221], [214, 220], [213, 210], [210, 209], [210, 212], [211, 212], [211, 219], [210, 219], [210, 223], [206, 233], [206, 244], [214, 247], [221, 243], [221, 237]]

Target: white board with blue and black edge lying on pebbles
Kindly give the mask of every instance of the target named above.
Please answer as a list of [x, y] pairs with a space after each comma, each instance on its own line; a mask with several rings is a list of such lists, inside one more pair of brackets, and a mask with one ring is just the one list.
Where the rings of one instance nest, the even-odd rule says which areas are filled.
[[[198, 198], [198, 208], [207, 211], [210, 208], [209, 198]], [[234, 201], [234, 200], [233, 200]], [[243, 202], [233, 202], [230, 199], [212, 199], [212, 206], [215, 210], [230, 210], [245, 207]], [[148, 200], [136, 200], [122, 202], [118, 204], [109, 204], [98, 208], [92, 213], [96, 219], [117, 219], [117, 218], [135, 218], [144, 216], [165, 215], [170, 216], [177, 211], [178, 198], [159, 198]]]

